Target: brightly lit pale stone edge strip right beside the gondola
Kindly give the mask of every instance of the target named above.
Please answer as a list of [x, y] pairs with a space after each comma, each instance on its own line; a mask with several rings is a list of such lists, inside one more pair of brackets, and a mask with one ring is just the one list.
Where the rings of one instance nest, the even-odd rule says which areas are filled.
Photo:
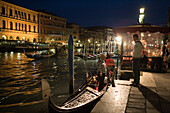
[[130, 81], [116, 80], [110, 86], [91, 113], [124, 113], [130, 91]]

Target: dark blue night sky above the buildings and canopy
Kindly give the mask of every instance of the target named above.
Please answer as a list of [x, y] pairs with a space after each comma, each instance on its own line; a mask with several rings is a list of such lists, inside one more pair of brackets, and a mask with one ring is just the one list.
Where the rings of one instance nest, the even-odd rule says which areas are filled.
[[170, 0], [8, 0], [29, 9], [46, 9], [82, 27], [121, 27], [138, 22], [145, 7], [144, 23], [168, 23]]

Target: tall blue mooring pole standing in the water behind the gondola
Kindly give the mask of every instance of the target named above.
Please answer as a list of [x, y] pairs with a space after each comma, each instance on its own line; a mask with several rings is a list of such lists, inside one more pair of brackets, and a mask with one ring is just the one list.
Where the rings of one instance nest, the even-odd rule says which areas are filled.
[[74, 52], [73, 52], [73, 38], [72, 35], [69, 37], [68, 41], [68, 59], [69, 59], [69, 73], [70, 73], [70, 81], [69, 81], [69, 93], [72, 94], [74, 92]]

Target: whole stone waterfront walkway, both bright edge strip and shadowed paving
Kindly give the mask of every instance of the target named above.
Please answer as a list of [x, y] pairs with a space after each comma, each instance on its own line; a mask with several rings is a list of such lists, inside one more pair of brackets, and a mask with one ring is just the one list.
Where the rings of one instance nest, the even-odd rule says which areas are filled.
[[143, 72], [140, 78], [140, 87], [116, 80], [91, 113], [170, 113], [170, 72]]

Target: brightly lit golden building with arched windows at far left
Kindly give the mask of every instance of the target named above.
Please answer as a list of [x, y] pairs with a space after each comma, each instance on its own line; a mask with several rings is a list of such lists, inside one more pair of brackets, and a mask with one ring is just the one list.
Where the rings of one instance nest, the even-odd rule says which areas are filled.
[[37, 12], [1, 0], [0, 39], [38, 42]]

